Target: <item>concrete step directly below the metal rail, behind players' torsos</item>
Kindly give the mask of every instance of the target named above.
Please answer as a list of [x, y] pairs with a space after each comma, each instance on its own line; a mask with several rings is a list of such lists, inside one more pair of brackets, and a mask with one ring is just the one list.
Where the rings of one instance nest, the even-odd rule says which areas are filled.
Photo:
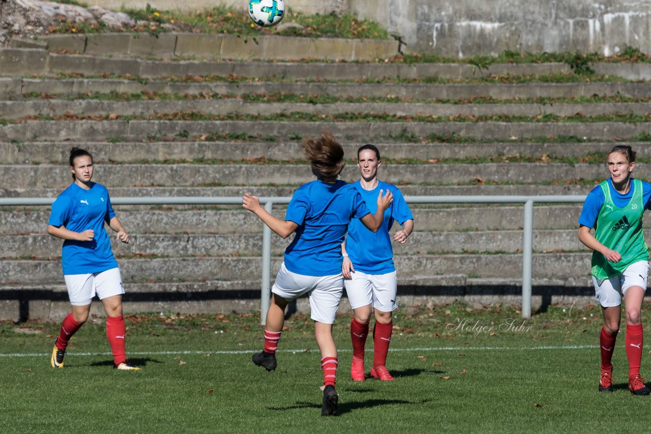
[[[523, 221], [522, 206], [432, 208], [411, 204], [410, 208], [417, 231], [517, 230]], [[534, 206], [534, 229], [575, 229], [581, 208], [581, 204]], [[276, 206], [273, 214], [284, 219], [284, 207]], [[119, 210], [118, 217], [130, 234], [259, 234], [262, 230], [252, 213], [240, 207], [234, 210]], [[0, 235], [43, 234], [48, 218], [49, 208], [29, 211], [0, 208]]]

